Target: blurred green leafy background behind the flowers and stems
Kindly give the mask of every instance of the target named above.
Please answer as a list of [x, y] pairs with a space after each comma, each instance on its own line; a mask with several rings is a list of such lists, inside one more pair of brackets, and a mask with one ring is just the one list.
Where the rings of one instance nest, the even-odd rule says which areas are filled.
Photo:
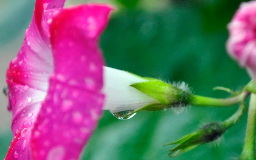
[[[0, 0], [1, 85], [5, 70], [21, 46], [30, 23], [34, 0]], [[69, 0], [70, 4], [86, 0]], [[215, 86], [241, 89], [248, 77], [226, 54], [226, 26], [240, 0], [98, 0], [116, 6], [101, 36], [107, 66], [141, 76], [185, 81], [193, 93], [226, 97]], [[11, 114], [1, 95], [0, 159], [12, 139]], [[178, 157], [168, 157], [173, 146], [163, 145], [189, 134], [211, 121], [225, 120], [230, 108], [187, 107], [142, 111], [130, 120], [118, 120], [105, 111], [85, 147], [84, 160], [233, 160], [240, 155], [247, 115], [230, 128], [219, 142], [201, 145]]]

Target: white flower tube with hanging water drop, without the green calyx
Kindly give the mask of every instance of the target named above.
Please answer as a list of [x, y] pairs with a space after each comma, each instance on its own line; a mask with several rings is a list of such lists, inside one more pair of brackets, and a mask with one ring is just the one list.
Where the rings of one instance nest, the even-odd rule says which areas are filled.
[[116, 118], [130, 119], [135, 115], [133, 111], [151, 103], [160, 103], [157, 99], [130, 86], [134, 83], [147, 82], [148, 79], [105, 66], [103, 71], [103, 92], [106, 96], [104, 110], [109, 110]]

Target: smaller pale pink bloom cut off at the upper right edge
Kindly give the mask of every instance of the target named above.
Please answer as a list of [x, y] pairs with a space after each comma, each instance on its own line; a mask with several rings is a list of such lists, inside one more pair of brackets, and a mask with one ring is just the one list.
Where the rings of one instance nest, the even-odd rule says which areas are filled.
[[227, 50], [256, 81], [256, 1], [242, 3], [228, 25]]

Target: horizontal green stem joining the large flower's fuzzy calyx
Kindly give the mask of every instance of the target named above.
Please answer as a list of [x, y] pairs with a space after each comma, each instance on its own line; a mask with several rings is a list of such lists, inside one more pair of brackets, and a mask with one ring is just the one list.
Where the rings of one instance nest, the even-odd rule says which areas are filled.
[[231, 98], [211, 98], [211, 97], [203, 97], [200, 95], [191, 95], [190, 105], [228, 107], [228, 106], [236, 105], [238, 103], [243, 103], [247, 95], [248, 95], [247, 92], [242, 92], [241, 94]]

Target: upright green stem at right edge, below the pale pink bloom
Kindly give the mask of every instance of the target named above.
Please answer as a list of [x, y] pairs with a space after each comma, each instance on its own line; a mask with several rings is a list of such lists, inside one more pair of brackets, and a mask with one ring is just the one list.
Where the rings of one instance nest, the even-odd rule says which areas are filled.
[[255, 157], [255, 128], [256, 128], [256, 94], [251, 94], [248, 110], [246, 137], [239, 160], [256, 160]]

